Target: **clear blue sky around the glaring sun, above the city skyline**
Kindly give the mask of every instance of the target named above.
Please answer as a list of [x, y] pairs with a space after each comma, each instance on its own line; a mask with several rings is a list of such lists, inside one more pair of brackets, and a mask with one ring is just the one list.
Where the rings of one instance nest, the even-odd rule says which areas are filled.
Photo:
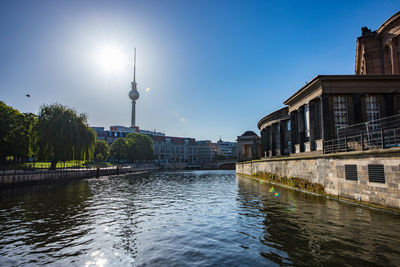
[[140, 128], [233, 141], [315, 75], [353, 74], [361, 27], [399, 10], [398, 0], [3, 0], [0, 100], [129, 126], [136, 47]]

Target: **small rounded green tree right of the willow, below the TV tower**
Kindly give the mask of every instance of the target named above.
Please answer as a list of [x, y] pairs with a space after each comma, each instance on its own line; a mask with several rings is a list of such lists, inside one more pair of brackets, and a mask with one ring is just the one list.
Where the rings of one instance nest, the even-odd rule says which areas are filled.
[[130, 133], [125, 138], [118, 138], [111, 145], [111, 156], [129, 161], [153, 159], [153, 140], [144, 134]]

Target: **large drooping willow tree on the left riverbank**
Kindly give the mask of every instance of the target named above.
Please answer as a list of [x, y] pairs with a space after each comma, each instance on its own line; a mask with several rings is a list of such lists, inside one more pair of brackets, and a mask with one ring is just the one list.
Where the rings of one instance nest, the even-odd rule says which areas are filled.
[[32, 152], [38, 160], [92, 160], [96, 133], [88, 126], [87, 116], [61, 104], [40, 107], [32, 126]]

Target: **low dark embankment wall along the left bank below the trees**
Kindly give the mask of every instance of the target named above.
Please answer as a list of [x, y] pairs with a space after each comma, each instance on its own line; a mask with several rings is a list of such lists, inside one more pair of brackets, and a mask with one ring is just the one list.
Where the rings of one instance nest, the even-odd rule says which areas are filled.
[[42, 182], [58, 182], [69, 179], [85, 179], [107, 175], [118, 175], [125, 173], [152, 171], [159, 168], [154, 165], [143, 167], [124, 167], [124, 168], [99, 168], [99, 169], [71, 169], [56, 171], [40, 171], [23, 172], [16, 171], [10, 174], [0, 175], [0, 187], [8, 187], [17, 184], [42, 183]]

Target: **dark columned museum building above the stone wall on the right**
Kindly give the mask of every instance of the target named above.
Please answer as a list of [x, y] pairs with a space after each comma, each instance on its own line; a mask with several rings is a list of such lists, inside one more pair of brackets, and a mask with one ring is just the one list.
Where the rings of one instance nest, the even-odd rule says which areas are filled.
[[363, 27], [355, 75], [318, 75], [263, 117], [261, 156], [364, 150], [372, 141], [398, 145], [399, 36], [400, 12], [377, 31]]

